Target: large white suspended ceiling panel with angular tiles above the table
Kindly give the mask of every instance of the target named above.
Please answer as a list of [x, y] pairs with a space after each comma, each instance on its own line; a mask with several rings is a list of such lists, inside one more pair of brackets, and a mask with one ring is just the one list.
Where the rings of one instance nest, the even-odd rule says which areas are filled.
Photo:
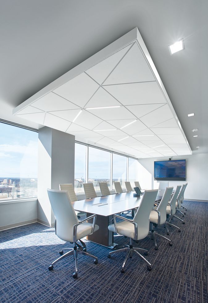
[[192, 153], [137, 28], [44, 87], [13, 114], [135, 158]]

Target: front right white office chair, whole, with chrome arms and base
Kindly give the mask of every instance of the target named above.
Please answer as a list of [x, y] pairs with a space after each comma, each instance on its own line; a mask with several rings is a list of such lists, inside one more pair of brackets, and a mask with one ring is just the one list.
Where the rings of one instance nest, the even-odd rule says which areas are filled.
[[122, 218], [123, 220], [120, 222], [116, 222], [116, 218], [121, 220], [121, 217], [118, 215], [114, 215], [114, 224], [108, 226], [108, 229], [114, 233], [123, 235], [125, 237], [130, 238], [130, 245], [125, 245], [124, 248], [113, 250], [108, 254], [108, 258], [111, 258], [112, 254], [116, 254], [122, 251], [126, 251], [127, 255], [123, 262], [121, 272], [124, 272], [124, 266], [126, 264], [127, 258], [131, 258], [132, 254], [135, 253], [141, 259], [143, 259], [147, 263], [148, 270], [151, 270], [151, 264], [141, 255], [138, 251], [143, 251], [145, 255], [148, 254], [148, 250], [133, 247], [133, 240], [141, 240], [147, 237], [149, 233], [149, 215], [151, 209], [154, 205], [158, 190], [145, 190], [144, 195], [142, 196], [141, 203], [138, 207], [138, 210], [133, 218], [133, 220]]

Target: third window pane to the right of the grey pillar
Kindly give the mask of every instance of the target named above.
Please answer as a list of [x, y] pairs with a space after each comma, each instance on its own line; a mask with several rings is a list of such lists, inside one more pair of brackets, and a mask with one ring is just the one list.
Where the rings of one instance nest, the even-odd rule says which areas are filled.
[[114, 182], [120, 182], [121, 187], [125, 188], [125, 181], [127, 181], [127, 157], [113, 154], [113, 186]]

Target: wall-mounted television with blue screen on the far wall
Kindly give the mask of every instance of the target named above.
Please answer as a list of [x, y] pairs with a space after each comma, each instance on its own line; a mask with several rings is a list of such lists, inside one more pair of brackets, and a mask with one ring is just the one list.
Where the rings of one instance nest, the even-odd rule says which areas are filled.
[[158, 181], [185, 181], [185, 160], [154, 161], [154, 178]]

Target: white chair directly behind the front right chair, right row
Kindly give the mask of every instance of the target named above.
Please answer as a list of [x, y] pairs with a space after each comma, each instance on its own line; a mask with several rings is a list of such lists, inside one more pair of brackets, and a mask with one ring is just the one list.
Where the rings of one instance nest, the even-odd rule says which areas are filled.
[[150, 224], [152, 224], [152, 228], [151, 228], [151, 232], [149, 232], [149, 234], [151, 234], [152, 238], [154, 239], [155, 250], [158, 250], [158, 245], [157, 245], [157, 242], [155, 239], [155, 235], [162, 237], [165, 240], [168, 240], [169, 245], [172, 246], [171, 240], [169, 240], [168, 238], [166, 238], [154, 231], [154, 227], [160, 226], [162, 224], [165, 224], [166, 228], [168, 229], [167, 223], [166, 223], [166, 207], [167, 207], [170, 195], [172, 194], [172, 191], [173, 191], [173, 187], [166, 187], [159, 205], [157, 207], [154, 207], [154, 209], [152, 209], [150, 212], [149, 220], [150, 220]]

